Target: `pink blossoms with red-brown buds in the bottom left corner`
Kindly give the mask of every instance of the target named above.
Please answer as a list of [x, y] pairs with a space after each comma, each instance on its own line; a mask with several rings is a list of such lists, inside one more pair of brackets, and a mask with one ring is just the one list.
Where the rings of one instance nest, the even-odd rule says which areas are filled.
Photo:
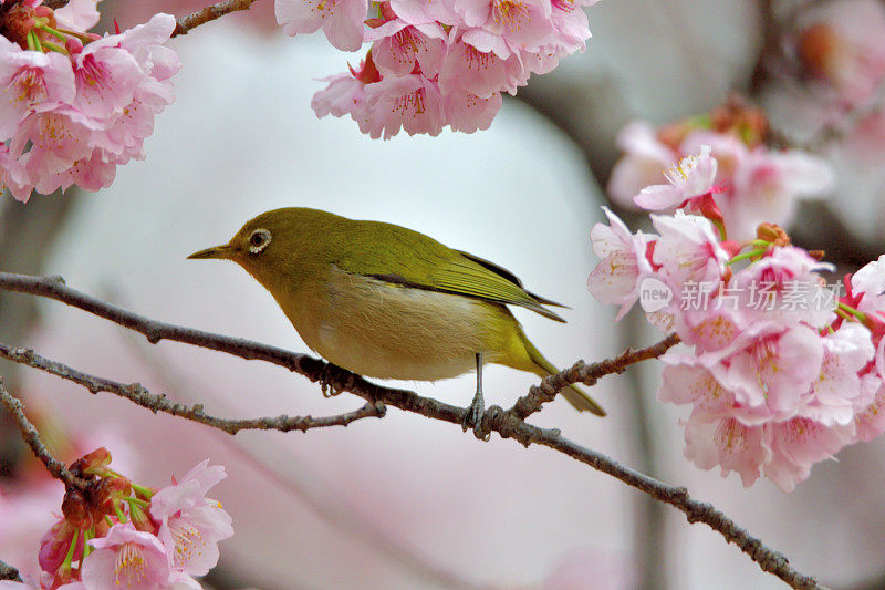
[[18, 588], [201, 588], [192, 577], [215, 567], [218, 541], [233, 535], [221, 504], [206, 497], [225, 468], [209, 467], [207, 459], [153, 490], [111, 470], [110, 462], [100, 448], [72, 466], [91, 487], [67, 490], [64, 518], [41, 544], [39, 584]]

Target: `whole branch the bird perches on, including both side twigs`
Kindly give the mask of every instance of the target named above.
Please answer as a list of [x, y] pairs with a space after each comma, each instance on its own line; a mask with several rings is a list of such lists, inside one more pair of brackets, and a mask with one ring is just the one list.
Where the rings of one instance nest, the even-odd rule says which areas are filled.
[[[468, 412], [466, 407], [459, 407], [431, 397], [425, 397], [412, 391], [384, 387], [369, 383], [360, 375], [306, 354], [290, 352], [251, 340], [216, 334], [153, 320], [72, 289], [64, 283], [61, 277], [46, 278], [0, 272], [0, 289], [55, 299], [56, 301], [98, 315], [100, 318], [110, 320], [129, 330], [140, 332], [154, 344], [160, 340], [173, 340], [218, 352], [225, 352], [246, 360], [260, 360], [273, 363], [304, 375], [313, 382], [319, 381], [324, 386], [331, 387], [335, 392], [348, 392], [367, 402], [363, 408], [341, 416], [332, 416], [330, 418], [311, 418], [306, 416], [304, 418], [294, 417], [289, 420], [332, 422], [330, 424], [321, 424], [323, 426], [346, 425], [350, 420], [344, 420], [342, 416], [351, 416], [353, 420], [373, 415], [381, 417], [384, 414], [383, 408], [391, 405], [406, 412], [420, 414], [428, 418], [449, 422], [460, 426]], [[562, 436], [559, 431], [539, 428], [524, 421], [524, 418], [538, 412], [543, 403], [552, 401], [561, 389], [573, 383], [593, 385], [605, 375], [622, 373], [628, 365], [635, 362], [660, 356], [678, 342], [678, 337], [670, 334], [652, 346], [637, 351], [628, 350], [614, 359], [591, 364], [579, 361], [571, 368], [542, 380], [540, 385], [533, 386], [527, 395], [520, 397], [509, 410], [503, 410], [500, 406], [489, 407], [482, 418], [481, 426], [488, 432], [498, 433], [502, 438], [513, 438], [527, 447], [531, 444], [537, 444], [558, 451], [594, 469], [606, 473], [659, 501], [674, 506], [685, 514], [689, 522], [706, 524], [719, 532], [728, 542], [737, 545], [740, 550], [747, 553], [762, 570], [777, 576], [793, 588], [823, 588], [813, 577], [796, 571], [790, 566], [789, 560], [782, 553], [767, 547], [759, 538], [750, 535], [745, 528], [738, 526], [737, 522], [711, 504], [691, 498], [685, 487], [671, 486], [659, 482], [621, 465], [602, 453], [570, 441]], [[154, 412], [163, 411], [173, 413], [187, 420], [195, 420], [196, 422], [218, 427], [225, 432], [231, 432], [230, 428], [223, 426], [223, 423], [214, 424], [214, 421], [223, 421], [223, 418], [215, 418], [206, 415], [202, 412], [201, 405], [198, 404], [197, 406], [188, 408], [181, 404], [175, 404], [164, 396], [150, 394], [138, 384], [125, 385], [103, 377], [87, 375], [55, 361], [44, 359], [27, 349], [3, 345], [0, 346], [0, 356], [74, 381], [93, 392], [111, 391], [121, 394], [121, 391], [129, 391], [133, 395], [127, 396], [128, 398]], [[163, 407], [165, 404], [152, 407], [149, 403], [153, 403], [152, 400], [155, 401], [156, 398], [164, 400], [168, 404], [171, 404], [171, 407]], [[140, 403], [138, 400], [146, 400], [147, 405], [146, 403]], [[180, 410], [180, 412], [170, 411], [175, 407]], [[285, 418], [285, 416], [275, 420], [282, 418]], [[295, 428], [309, 429], [298, 426]], [[236, 429], [233, 432], [236, 432]]]

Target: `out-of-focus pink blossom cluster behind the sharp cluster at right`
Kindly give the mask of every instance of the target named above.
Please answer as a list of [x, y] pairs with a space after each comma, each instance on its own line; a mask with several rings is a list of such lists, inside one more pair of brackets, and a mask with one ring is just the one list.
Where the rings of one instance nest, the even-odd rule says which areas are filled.
[[[714, 200], [732, 239], [752, 237], [761, 222], [788, 225], [798, 199], [818, 197], [831, 188], [833, 173], [825, 161], [799, 149], [773, 151], [761, 143], [764, 121], [716, 115], [660, 130], [642, 122], [627, 125], [617, 139], [625, 154], [607, 187], [612, 199], [627, 208], [671, 210], [681, 205], [666, 195], [650, 198], [646, 193], [635, 203], [634, 197], [647, 185], [666, 182], [663, 170], [696, 154], [701, 145], [710, 146], [718, 162], [708, 172], [716, 185]], [[723, 117], [732, 120], [723, 122]]]

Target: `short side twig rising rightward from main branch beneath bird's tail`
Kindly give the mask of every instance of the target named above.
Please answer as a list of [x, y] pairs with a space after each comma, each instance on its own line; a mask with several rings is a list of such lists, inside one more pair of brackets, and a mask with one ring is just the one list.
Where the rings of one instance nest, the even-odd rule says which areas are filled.
[[512, 412], [520, 420], [525, 420], [539, 412], [542, 404], [552, 402], [556, 394], [569, 385], [574, 383], [595, 385], [605, 375], [621, 374], [632, 364], [656, 359], [678, 343], [679, 337], [670, 334], [657, 344], [639, 350], [627, 349], [614, 359], [592, 364], [577, 361], [569, 369], [544, 377], [539, 385], [532, 385], [529, 393], [517, 400], [517, 403], [508, 412]]

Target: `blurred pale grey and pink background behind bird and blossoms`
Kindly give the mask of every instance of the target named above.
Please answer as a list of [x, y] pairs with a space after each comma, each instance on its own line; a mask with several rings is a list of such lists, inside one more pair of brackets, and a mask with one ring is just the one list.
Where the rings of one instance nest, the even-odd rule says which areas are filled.
[[[116, 17], [122, 28], [157, 10], [200, 6], [102, 2], [105, 20]], [[502, 265], [572, 308], [568, 324], [516, 310], [553, 362], [607, 358], [659, 338], [635, 311], [614, 324], [615, 310], [585, 288], [596, 261], [589, 232], [610, 204], [606, 186], [623, 156], [618, 134], [629, 122], [645, 121], [666, 138], [687, 117], [742, 101], [738, 93], [768, 116], [772, 142], [801, 145], [835, 170], [832, 189], [819, 195], [826, 198], [800, 204], [796, 241], [827, 250], [842, 272], [878, 256], [882, 92], [877, 83], [866, 93], [855, 86], [885, 75], [885, 61], [876, 61], [885, 53], [877, 45], [885, 43], [883, 13], [877, 0], [605, 0], [587, 9], [594, 37], [586, 53], [532, 77], [489, 131], [375, 142], [351, 120], [316, 120], [310, 110], [323, 86], [315, 79], [358, 58], [322, 35], [284, 37], [271, 2], [259, 0], [248, 13], [171, 41], [184, 64], [176, 102], [156, 118], [146, 159], [121, 167], [111, 188], [35, 194], [27, 205], [2, 197], [0, 270], [62, 275], [75, 289], [152, 318], [308, 352], [240, 268], [185, 257], [227, 241], [261, 211], [317, 207], [418, 229]], [[814, 28], [821, 23], [823, 33]], [[641, 216], [618, 210], [639, 227]], [[324, 398], [279, 368], [150, 345], [58, 302], [2, 291], [0, 341], [226, 416], [330, 415], [362, 405], [347, 394]], [[231, 437], [8, 362], [0, 374], [60, 457], [104, 445], [116, 470], [148, 486], [207, 457], [226, 466], [214, 495], [232, 515], [235, 536], [221, 544], [209, 587], [781, 587], [708, 528], [549, 449], [497, 436], [481, 443], [395, 408], [346, 429]], [[506, 404], [535, 380], [491, 366], [485, 381], [487, 403]], [[398, 385], [466, 405], [473, 376]], [[881, 441], [818, 464], [792, 494], [767, 479], [743, 488], [736, 475], [721, 478], [683, 457], [686, 412], [657, 402], [656, 387], [649, 363], [594, 389], [604, 420], [576, 415], [562, 401], [532, 420], [687, 486], [827, 586], [885, 588]], [[6, 420], [0, 559], [34, 575], [39, 539], [63, 490]]]

